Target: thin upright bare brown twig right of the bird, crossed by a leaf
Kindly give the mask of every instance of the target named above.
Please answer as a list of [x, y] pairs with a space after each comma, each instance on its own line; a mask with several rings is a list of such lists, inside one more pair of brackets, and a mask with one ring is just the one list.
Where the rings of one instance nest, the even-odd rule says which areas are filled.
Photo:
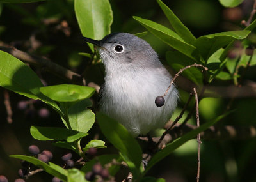
[[[196, 102], [196, 126], [199, 127], [199, 126], [200, 126], [200, 121], [199, 121], [198, 96], [197, 96], [197, 93], [196, 93], [196, 89], [195, 89], [195, 88], [193, 88], [193, 91], [194, 91], [195, 102]], [[201, 142], [201, 139], [200, 139], [200, 133], [198, 133], [198, 135], [197, 135], [197, 137], [196, 137], [196, 140], [197, 140], [197, 149], [198, 149], [198, 152], [197, 152], [197, 174], [196, 174], [196, 182], [199, 182], [199, 176], [200, 176], [200, 144], [202, 143], [202, 142]]]

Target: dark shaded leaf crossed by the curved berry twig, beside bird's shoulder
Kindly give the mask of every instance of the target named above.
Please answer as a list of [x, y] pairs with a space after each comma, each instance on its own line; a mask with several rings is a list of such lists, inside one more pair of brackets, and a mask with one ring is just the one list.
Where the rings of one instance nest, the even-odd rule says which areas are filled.
[[[177, 51], [166, 52], [166, 61], [177, 72], [179, 72], [181, 68], [195, 63], [193, 59]], [[193, 81], [195, 84], [202, 84], [203, 82], [203, 74], [198, 68], [191, 67], [186, 69], [182, 72], [182, 75]]]

